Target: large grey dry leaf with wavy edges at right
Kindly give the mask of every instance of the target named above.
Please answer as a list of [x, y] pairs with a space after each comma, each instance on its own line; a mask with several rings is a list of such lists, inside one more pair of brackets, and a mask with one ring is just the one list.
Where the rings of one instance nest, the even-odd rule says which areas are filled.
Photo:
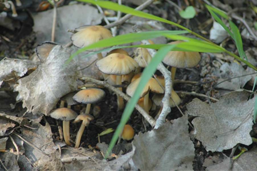
[[187, 105], [186, 113], [196, 117], [192, 121], [193, 134], [207, 151], [231, 149], [238, 143], [252, 144], [249, 133], [255, 98], [248, 100], [250, 95], [249, 91], [238, 90], [224, 95], [216, 103], [207, 104], [196, 98]]

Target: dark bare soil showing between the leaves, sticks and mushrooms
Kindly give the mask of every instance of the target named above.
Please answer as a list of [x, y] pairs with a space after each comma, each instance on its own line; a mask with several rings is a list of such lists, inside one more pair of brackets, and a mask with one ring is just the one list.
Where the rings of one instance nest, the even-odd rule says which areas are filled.
[[[136, 7], [136, 5], [132, 4], [130, 1], [125, 1], [125, 5], [128, 5], [130, 7]], [[196, 33], [200, 34], [201, 36], [204, 36], [205, 38], [209, 38], [209, 34], [202, 34], [202, 30], [199, 30], [198, 27], [201, 25], [203, 22], [207, 21], [208, 19], [211, 18], [209, 12], [203, 8], [202, 4], [199, 4], [198, 1], [195, 1], [196, 5], [198, 5], [198, 15], [190, 19], [189, 22], [187, 20], [181, 20], [179, 15], [178, 15], [178, 10], [174, 8], [170, 3], [166, 1], [162, 1], [162, 3], [157, 4], [157, 5], [150, 5], [150, 7], [147, 8], [148, 12], [154, 15], [157, 15], [159, 17], [165, 17], [170, 21], [173, 22], [180, 22], [180, 25], [187, 27]], [[184, 1], [181, 1], [182, 7], [185, 7], [186, 5], [184, 4]], [[244, 4], [246, 6], [246, 4]], [[24, 21], [19, 21], [21, 25], [25, 25]], [[236, 21], [234, 21], [236, 22]], [[104, 25], [104, 22], [103, 24]], [[26, 24], [28, 26], [28, 24]], [[164, 26], [168, 30], [178, 30], [178, 28], [173, 27], [168, 24], [164, 24]], [[31, 27], [32, 28], [32, 27]], [[205, 30], [210, 30], [211, 25], [207, 26]], [[21, 28], [22, 29], [22, 28]], [[33, 30], [28, 29], [28, 31], [23, 33], [21, 35], [21, 29], [15, 29], [14, 31], [8, 30], [4, 27], [0, 27], [0, 60], [2, 60], [4, 57], [8, 58], [23, 58], [24, 56], [32, 56], [34, 54], [34, 48], [37, 46], [35, 44], [35, 34]], [[24, 30], [23, 30], [24, 31]], [[227, 46], [225, 48], [231, 52], [236, 52], [236, 48], [231, 48], [229, 44], [233, 44], [231, 40], [228, 40]], [[243, 39], [243, 46], [244, 50], [247, 50], [249, 47], [254, 47], [254, 42]], [[209, 65], [212, 67], [212, 60], [214, 59], [213, 56], [210, 56], [209, 54], [202, 54], [202, 56], [206, 56], [209, 60], [205, 63], [205, 65]], [[176, 79], [181, 80], [184, 78], [184, 80], [189, 80], [189, 81], [197, 81], [199, 83], [204, 84], [176, 84], [174, 86], [174, 90], [176, 91], [195, 91], [196, 93], [202, 93], [206, 94], [207, 91], [209, 91], [215, 83], [214, 82], [207, 82], [213, 79], [208, 78], [208, 77], [202, 77], [201, 76], [201, 68], [203, 66], [198, 65], [195, 68], [192, 69], [178, 69], [176, 72]], [[157, 73], [158, 74], [158, 73]], [[246, 86], [246, 89], [252, 89], [251, 86]], [[104, 89], [106, 95], [105, 98], [98, 102], [95, 103], [91, 106], [91, 112], [92, 115], [95, 115], [95, 119], [91, 121], [90, 125], [86, 127], [84, 134], [81, 139], [81, 146], [82, 147], [88, 147], [89, 145], [95, 147], [97, 146], [97, 143], [99, 143], [97, 134], [101, 133], [102, 131], [105, 131], [108, 128], [116, 128], [120, 122], [121, 116], [122, 116], [122, 111], [117, 111], [117, 96], [113, 93], [111, 93], [109, 90]], [[11, 97], [6, 104], [14, 103], [15, 102], [15, 94], [12, 92], [8, 92]], [[152, 95], [152, 94], [151, 94]], [[150, 95], [150, 96], [151, 96]], [[214, 91], [213, 96], [215, 97], [219, 96], [219, 92]], [[179, 105], [180, 109], [182, 112], [186, 110], [186, 105], [189, 103], [192, 99], [194, 99], [195, 96], [192, 95], [187, 95], [183, 98], [183, 101]], [[198, 97], [201, 100], [206, 100], [205, 98]], [[21, 109], [21, 103], [19, 103], [19, 107], [15, 108], [15, 110], [20, 110]], [[58, 105], [57, 105], [58, 106]], [[82, 104], [77, 104], [73, 105], [71, 108], [76, 111], [78, 114], [81, 109], [83, 109], [85, 105]], [[3, 110], [1, 108], [1, 110]], [[99, 112], [99, 116], [97, 112]], [[14, 112], [14, 110], [12, 110]], [[156, 111], [151, 111], [150, 115], [153, 117], [156, 115]], [[172, 108], [172, 112], [167, 116], [167, 120], [172, 120], [176, 119], [178, 117], [181, 117], [180, 111], [175, 107]], [[52, 129], [52, 137], [54, 140], [60, 140], [60, 134], [58, 131], [58, 125], [61, 126], [62, 122], [61, 121], [56, 121], [55, 119], [52, 119], [51, 117], [46, 116], [46, 121], [51, 125]], [[42, 119], [41, 124], [44, 125], [44, 120]], [[71, 139], [75, 141], [76, 138], [76, 133], [80, 127], [81, 123], [76, 123], [76, 124], [71, 124], [70, 125], [70, 130], [71, 130]], [[140, 113], [138, 113], [136, 110], [132, 113], [128, 123], [131, 125], [135, 131], [135, 134], [138, 134], [139, 132], [146, 132], [152, 129], [152, 127], [148, 124], [145, 123], [142, 116]], [[189, 132], [191, 129], [189, 129]], [[114, 133], [114, 132], [113, 132]], [[109, 144], [112, 137], [113, 133], [106, 134], [104, 136], [100, 137], [101, 142], [105, 142], [106, 144]], [[123, 140], [122, 140], [123, 142]], [[131, 141], [130, 141], [131, 142]], [[126, 143], [126, 142], [125, 142]], [[205, 150], [205, 148], [201, 145], [200, 142], [195, 140], [195, 160], [193, 162], [193, 168], [194, 170], [205, 170], [205, 167], [203, 167], [203, 162], [204, 159], [207, 158], [210, 155], [213, 155], [212, 153], [209, 153]], [[129, 150], [126, 150], [125, 147], [123, 148], [123, 152], [129, 152]], [[115, 149], [114, 149], [115, 151]], [[229, 156], [231, 150], [227, 151], [226, 154]], [[119, 153], [119, 150], [117, 150], [117, 153]], [[237, 152], [236, 152], [237, 153]]]

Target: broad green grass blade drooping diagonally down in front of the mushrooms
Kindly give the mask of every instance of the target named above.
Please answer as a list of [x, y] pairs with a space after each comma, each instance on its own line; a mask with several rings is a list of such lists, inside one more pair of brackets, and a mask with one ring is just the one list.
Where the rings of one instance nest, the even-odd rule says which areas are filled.
[[154, 72], [156, 71], [156, 68], [158, 66], [158, 64], [160, 62], [162, 62], [162, 59], [164, 58], [164, 56], [170, 51], [172, 50], [172, 48], [176, 46], [176, 45], [172, 45], [172, 46], [164, 46], [163, 48], [161, 48], [160, 50], [158, 50], [158, 52], [156, 53], [155, 57], [152, 58], [151, 62], [148, 64], [148, 66], [144, 69], [142, 75], [141, 75], [141, 80], [140, 83], [138, 84], [138, 87], [133, 95], [133, 97], [131, 97], [130, 101], [128, 102], [128, 104], [126, 105], [123, 115], [121, 117], [121, 121], [113, 135], [113, 138], [111, 140], [111, 143], [109, 144], [109, 148], [108, 148], [108, 153], [110, 154], [112, 148], [114, 147], [115, 143], [117, 142], [117, 139], [119, 137], [119, 134], [121, 133], [124, 125], [127, 123], [132, 111], [134, 110], [134, 106], [136, 105], [140, 93], [144, 88], [144, 85], [148, 82], [148, 80], [150, 79], [150, 77], [152, 77], [152, 74], [154, 74]]

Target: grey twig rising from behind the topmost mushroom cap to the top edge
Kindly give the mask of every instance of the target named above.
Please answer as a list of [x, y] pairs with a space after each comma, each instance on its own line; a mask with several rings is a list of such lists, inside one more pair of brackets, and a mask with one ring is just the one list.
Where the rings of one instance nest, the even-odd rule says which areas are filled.
[[[148, 0], [144, 3], [142, 3], [140, 6], [136, 7], [135, 10], [141, 11], [141, 10], [145, 9], [146, 7], [148, 7], [149, 5], [151, 5], [153, 2], [154, 2], [154, 0]], [[109, 28], [115, 27], [117, 25], [121, 25], [121, 24], [125, 23], [125, 21], [130, 19], [132, 16], [133, 15], [131, 15], [131, 14], [127, 14], [124, 17], [122, 17], [120, 20], [106, 25], [105, 28], [109, 29]]]

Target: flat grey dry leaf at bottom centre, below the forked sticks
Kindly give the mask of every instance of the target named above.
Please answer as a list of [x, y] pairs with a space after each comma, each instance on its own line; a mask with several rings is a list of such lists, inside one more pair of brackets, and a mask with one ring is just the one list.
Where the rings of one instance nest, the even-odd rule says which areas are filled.
[[132, 157], [140, 170], [193, 170], [194, 145], [188, 134], [187, 115], [157, 130], [139, 133], [132, 141]]

